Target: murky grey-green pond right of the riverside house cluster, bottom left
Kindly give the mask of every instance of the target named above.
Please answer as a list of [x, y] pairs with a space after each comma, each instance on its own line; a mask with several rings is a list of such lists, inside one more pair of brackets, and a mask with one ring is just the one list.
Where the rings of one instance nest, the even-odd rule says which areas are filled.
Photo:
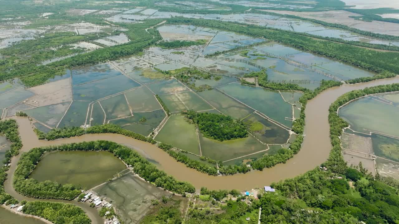
[[151, 210], [154, 200], [161, 200], [162, 196], [171, 197], [172, 194], [163, 191], [132, 173], [127, 173], [118, 179], [102, 185], [94, 191], [107, 197], [117, 210], [120, 218], [126, 224], [137, 224], [140, 219]]

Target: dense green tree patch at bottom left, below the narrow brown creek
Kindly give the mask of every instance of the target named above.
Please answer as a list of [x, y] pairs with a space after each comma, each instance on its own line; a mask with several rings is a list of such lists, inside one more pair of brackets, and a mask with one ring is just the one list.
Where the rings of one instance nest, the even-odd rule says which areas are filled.
[[23, 212], [39, 216], [54, 224], [91, 224], [85, 212], [73, 204], [30, 201], [26, 202]]

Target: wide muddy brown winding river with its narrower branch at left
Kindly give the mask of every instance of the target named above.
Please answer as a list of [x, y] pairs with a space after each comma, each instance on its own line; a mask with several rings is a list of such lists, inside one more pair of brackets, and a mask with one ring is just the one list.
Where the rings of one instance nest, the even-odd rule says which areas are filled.
[[[33, 147], [41, 147], [46, 145], [60, 145], [64, 143], [109, 140], [131, 147], [138, 151], [147, 159], [156, 162], [156, 165], [169, 175], [173, 175], [180, 181], [188, 181], [197, 189], [207, 187], [208, 189], [253, 189], [255, 187], [263, 187], [272, 182], [292, 178], [303, 174], [308, 170], [318, 167], [326, 161], [331, 150], [328, 124], [328, 108], [339, 96], [352, 90], [359, 90], [370, 86], [383, 84], [399, 83], [399, 76], [389, 79], [376, 80], [368, 83], [344, 84], [342, 86], [333, 87], [325, 90], [314, 99], [310, 100], [306, 105], [306, 120], [304, 129], [304, 142], [302, 149], [292, 159], [285, 164], [278, 164], [275, 167], [264, 169], [263, 171], [251, 171], [246, 174], [235, 174], [230, 176], [209, 176], [200, 173], [194, 169], [186, 167], [170, 157], [162, 149], [146, 143], [135, 140], [120, 134], [87, 134], [79, 137], [66, 138], [55, 141], [38, 140], [33, 132], [33, 127], [28, 118], [14, 117], [19, 125], [19, 132], [23, 147], [20, 154], [12, 159], [10, 170], [8, 171], [8, 179], [4, 183], [7, 193], [14, 196], [18, 200], [34, 200], [26, 198], [18, 194], [13, 186], [12, 179], [14, 171], [20, 155], [29, 151]], [[93, 220], [93, 224], [101, 224], [103, 220], [98, 216], [97, 210], [90, 208], [88, 204], [77, 201], [49, 200], [58, 202], [73, 203], [85, 210], [89, 218]]]

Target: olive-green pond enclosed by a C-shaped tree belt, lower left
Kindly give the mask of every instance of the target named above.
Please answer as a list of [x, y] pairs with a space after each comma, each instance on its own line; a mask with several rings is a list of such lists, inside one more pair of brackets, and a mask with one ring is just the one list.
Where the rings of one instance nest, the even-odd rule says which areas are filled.
[[56, 151], [41, 159], [30, 178], [91, 189], [124, 169], [124, 163], [107, 151]]

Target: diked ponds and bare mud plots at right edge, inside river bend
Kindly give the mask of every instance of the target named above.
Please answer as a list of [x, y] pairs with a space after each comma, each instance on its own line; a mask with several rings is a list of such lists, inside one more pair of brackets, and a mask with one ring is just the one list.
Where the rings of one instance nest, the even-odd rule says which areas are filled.
[[[350, 123], [345, 131], [350, 138], [342, 138], [344, 153], [351, 155], [350, 158], [346, 156], [347, 160], [362, 161], [373, 173], [376, 166], [381, 175], [395, 179], [399, 177], [399, 136], [396, 119], [391, 118], [399, 112], [398, 99], [397, 92], [373, 94], [339, 110], [339, 115]], [[360, 139], [357, 147], [353, 146], [356, 145], [354, 139]], [[360, 146], [365, 142], [368, 142], [367, 147]]]

